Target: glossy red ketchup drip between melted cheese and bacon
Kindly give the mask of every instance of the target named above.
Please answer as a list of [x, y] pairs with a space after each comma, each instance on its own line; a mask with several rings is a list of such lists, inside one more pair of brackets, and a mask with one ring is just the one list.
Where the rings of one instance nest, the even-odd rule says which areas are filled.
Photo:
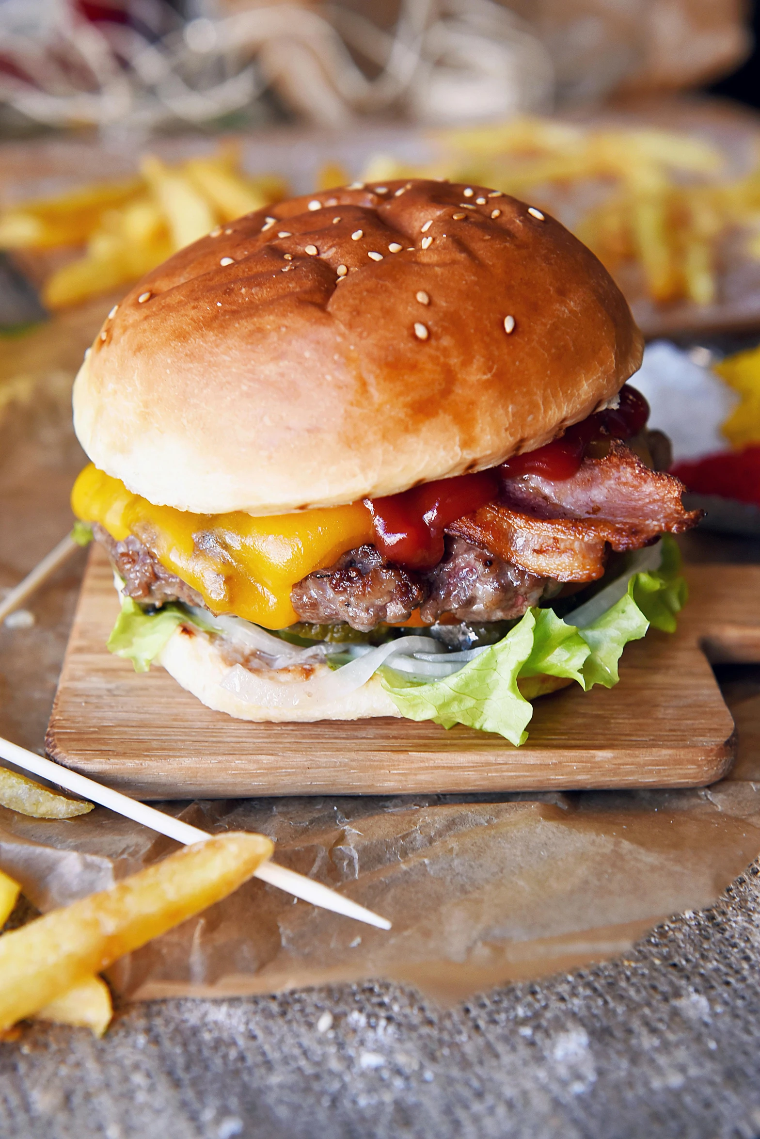
[[496, 470], [438, 478], [400, 494], [365, 499], [374, 522], [374, 544], [407, 570], [432, 570], [444, 556], [444, 527], [498, 497]]

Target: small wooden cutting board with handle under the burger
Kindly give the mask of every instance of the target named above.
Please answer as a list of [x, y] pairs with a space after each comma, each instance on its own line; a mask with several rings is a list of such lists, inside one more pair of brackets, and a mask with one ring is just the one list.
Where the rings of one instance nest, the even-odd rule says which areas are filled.
[[678, 632], [629, 645], [612, 689], [535, 704], [528, 741], [378, 719], [248, 723], [164, 672], [138, 674], [106, 640], [118, 604], [93, 548], [50, 726], [52, 759], [141, 798], [695, 787], [734, 757], [711, 661], [760, 662], [760, 566], [687, 567]]

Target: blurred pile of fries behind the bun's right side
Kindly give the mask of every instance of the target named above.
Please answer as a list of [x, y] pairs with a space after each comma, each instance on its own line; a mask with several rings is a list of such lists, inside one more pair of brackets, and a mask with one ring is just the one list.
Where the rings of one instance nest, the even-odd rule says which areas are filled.
[[379, 155], [364, 177], [445, 177], [529, 199], [577, 233], [629, 300], [714, 303], [720, 243], [737, 228], [749, 231], [747, 255], [760, 259], [760, 155], [749, 174], [730, 179], [726, 156], [694, 134], [551, 118], [447, 131], [437, 141], [440, 157], [428, 167]]

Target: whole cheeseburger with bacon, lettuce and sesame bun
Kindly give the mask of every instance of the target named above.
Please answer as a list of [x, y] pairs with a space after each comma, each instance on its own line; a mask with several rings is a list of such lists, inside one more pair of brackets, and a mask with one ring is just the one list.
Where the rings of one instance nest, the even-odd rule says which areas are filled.
[[214, 230], [74, 385], [109, 648], [247, 720], [519, 744], [531, 699], [617, 682], [684, 600], [668, 535], [699, 514], [642, 351], [596, 257], [497, 190], [353, 183]]

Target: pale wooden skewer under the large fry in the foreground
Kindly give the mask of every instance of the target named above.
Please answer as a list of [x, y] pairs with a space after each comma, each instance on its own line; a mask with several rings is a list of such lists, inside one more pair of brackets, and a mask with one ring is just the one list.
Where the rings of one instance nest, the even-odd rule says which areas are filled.
[[[167, 838], [174, 838], [175, 842], [183, 845], [205, 842], [212, 837], [207, 831], [192, 827], [189, 822], [183, 822], [182, 819], [174, 819], [171, 814], [157, 811], [155, 806], [148, 806], [147, 803], [130, 798], [129, 795], [122, 795], [118, 790], [104, 787], [94, 779], [81, 776], [76, 771], [69, 771], [68, 768], [53, 763], [51, 760], [43, 760], [41, 755], [27, 752], [25, 747], [11, 744], [9, 739], [1, 737], [0, 759], [14, 763], [18, 768], [24, 768], [25, 771], [31, 771], [32, 775], [42, 779], [49, 779], [50, 782], [57, 784], [58, 787], [65, 787], [66, 790], [71, 790], [75, 795], [107, 806], [117, 814], [141, 822], [144, 827], [157, 830], [158, 834], [166, 835]], [[353, 902], [350, 898], [345, 898], [334, 890], [323, 886], [320, 882], [306, 878], [303, 874], [296, 874], [295, 870], [288, 870], [284, 866], [278, 866], [276, 862], [263, 862], [254, 871], [254, 877], [267, 882], [271, 886], [276, 886], [278, 890], [284, 890], [286, 893], [294, 894], [305, 902], [311, 902], [312, 906], [332, 910], [333, 913], [342, 913], [356, 921], [365, 921], [367, 925], [377, 926], [378, 929], [390, 929], [390, 921], [387, 918], [373, 913], [372, 910], [367, 910], [357, 902]]]

